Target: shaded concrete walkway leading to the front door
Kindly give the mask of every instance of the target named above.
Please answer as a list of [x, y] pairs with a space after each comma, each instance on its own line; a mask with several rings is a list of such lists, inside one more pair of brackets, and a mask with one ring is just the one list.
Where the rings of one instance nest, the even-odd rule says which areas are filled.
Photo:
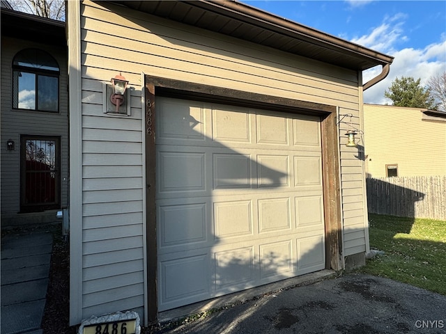
[[1, 334], [43, 333], [52, 233], [10, 233], [1, 239]]

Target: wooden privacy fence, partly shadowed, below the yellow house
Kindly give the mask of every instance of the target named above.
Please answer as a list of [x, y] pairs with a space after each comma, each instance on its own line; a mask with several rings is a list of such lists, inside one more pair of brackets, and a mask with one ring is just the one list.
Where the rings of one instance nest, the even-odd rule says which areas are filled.
[[372, 214], [446, 221], [446, 176], [367, 177]]

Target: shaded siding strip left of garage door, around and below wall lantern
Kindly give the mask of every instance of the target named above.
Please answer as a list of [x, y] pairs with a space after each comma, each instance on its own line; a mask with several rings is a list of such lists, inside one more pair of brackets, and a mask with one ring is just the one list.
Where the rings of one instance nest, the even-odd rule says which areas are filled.
[[144, 319], [141, 88], [130, 89], [131, 116], [112, 116], [102, 81], [82, 80], [83, 317], [132, 309]]

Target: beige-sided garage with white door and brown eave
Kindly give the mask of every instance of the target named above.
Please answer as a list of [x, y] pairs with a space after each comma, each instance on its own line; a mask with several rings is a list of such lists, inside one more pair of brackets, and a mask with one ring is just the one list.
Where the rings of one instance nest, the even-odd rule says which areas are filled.
[[67, 26], [70, 324], [364, 263], [338, 113], [362, 129], [392, 57], [234, 1], [68, 1]]

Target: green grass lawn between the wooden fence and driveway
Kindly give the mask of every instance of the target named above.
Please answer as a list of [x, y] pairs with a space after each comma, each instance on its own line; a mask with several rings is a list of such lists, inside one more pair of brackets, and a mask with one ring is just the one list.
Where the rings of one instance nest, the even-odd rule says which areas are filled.
[[446, 221], [369, 214], [370, 248], [384, 255], [367, 260], [370, 273], [446, 296]]

